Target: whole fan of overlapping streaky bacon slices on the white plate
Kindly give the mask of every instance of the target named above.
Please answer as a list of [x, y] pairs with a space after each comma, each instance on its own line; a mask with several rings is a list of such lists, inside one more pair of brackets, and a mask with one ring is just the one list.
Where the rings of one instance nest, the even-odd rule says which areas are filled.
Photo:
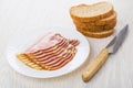
[[66, 65], [76, 54], [78, 40], [70, 40], [60, 33], [48, 33], [17, 57], [38, 70], [55, 70]]

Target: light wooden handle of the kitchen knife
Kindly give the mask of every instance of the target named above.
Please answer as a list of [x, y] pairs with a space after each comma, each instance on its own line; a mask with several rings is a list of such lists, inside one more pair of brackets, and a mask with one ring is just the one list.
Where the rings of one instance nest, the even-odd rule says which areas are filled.
[[86, 67], [86, 69], [82, 73], [83, 81], [90, 80], [96, 72], [101, 68], [101, 66], [105, 63], [109, 56], [109, 50], [103, 48], [100, 54], [95, 57], [95, 59]]

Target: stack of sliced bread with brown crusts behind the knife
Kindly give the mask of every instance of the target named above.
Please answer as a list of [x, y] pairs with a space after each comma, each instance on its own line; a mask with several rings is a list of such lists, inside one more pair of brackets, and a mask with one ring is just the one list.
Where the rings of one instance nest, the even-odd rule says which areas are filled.
[[85, 36], [100, 38], [114, 33], [116, 12], [110, 2], [71, 7], [70, 15], [76, 30]]

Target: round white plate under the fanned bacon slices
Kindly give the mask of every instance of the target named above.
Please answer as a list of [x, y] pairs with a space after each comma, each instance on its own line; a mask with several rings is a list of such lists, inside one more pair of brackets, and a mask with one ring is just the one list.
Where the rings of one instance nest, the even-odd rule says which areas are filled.
[[[35, 70], [24, 65], [16, 57], [18, 53], [24, 51], [29, 45], [34, 43], [39, 37], [48, 32], [61, 33], [68, 38], [78, 38], [80, 41], [78, 53], [69, 64], [58, 70]], [[88, 40], [75, 30], [64, 30], [61, 28], [41, 28], [34, 30], [22, 30], [21, 32], [16, 33], [8, 45], [6, 55], [10, 66], [18, 73], [29, 77], [50, 78], [61, 76], [76, 69], [86, 61], [89, 53], [90, 45]]]

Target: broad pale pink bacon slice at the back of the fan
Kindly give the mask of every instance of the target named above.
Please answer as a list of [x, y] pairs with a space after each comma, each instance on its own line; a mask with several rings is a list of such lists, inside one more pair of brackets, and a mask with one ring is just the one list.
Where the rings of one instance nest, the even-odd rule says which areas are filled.
[[60, 43], [62, 40], [64, 40], [64, 37], [60, 34], [50, 32], [41, 37], [37, 43], [31, 45], [31, 47], [29, 47], [25, 53], [33, 53], [40, 50], [48, 51], [49, 48], [54, 47], [54, 45]]

